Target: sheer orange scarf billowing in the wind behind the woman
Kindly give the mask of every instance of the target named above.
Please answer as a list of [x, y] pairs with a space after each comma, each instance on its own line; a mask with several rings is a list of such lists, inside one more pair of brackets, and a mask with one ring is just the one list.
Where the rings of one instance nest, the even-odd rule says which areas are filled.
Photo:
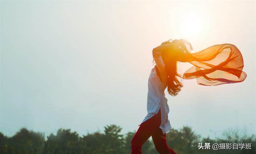
[[217, 44], [207, 47], [196, 53], [192, 51], [192, 45], [185, 39], [180, 39], [181, 51], [178, 53], [178, 61], [189, 62], [193, 65], [185, 71], [183, 79], [195, 79], [199, 85], [221, 85], [226, 83], [238, 83], [246, 79], [246, 73], [242, 71], [244, 61], [241, 52], [233, 44]]

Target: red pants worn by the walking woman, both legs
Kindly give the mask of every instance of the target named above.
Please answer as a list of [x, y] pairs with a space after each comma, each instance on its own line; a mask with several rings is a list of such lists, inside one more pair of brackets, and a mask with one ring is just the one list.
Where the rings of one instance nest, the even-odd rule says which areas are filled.
[[141, 147], [152, 136], [156, 150], [160, 154], [177, 154], [166, 144], [166, 133], [159, 128], [161, 124], [161, 109], [158, 113], [140, 124], [139, 129], [132, 138], [132, 154], [142, 154]]

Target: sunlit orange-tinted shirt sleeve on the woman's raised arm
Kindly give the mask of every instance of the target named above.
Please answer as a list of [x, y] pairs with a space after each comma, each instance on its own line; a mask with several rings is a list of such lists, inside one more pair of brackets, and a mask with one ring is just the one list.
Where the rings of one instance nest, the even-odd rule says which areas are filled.
[[153, 54], [153, 58], [156, 62], [156, 67], [158, 68], [159, 72], [160, 72], [160, 79], [163, 82], [167, 82], [167, 72], [165, 69], [165, 65], [164, 65], [164, 61], [162, 59], [162, 55], [160, 53], [160, 51], [152, 51]]

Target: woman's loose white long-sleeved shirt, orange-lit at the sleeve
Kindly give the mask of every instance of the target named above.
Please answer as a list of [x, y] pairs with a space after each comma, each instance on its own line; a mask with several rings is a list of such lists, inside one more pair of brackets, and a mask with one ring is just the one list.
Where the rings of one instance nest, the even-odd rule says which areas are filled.
[[159, 127], [162, 129], [163, 134], [165, 134], [172, 128], [170, 125], [170, 120], [168, 120], [169, 107], [164, 94], [164, 90], [167, 87], [167, 74], [161, 53], [159, 51], [153, 51], [153, 58], [160, 72], [162, 81], [158, 77], [155, 67], [153, 67], [148, 78], [148, 114], [145, 116], [142, 122], [157, 114], [159, 109], [161, 109], [161, 124]]

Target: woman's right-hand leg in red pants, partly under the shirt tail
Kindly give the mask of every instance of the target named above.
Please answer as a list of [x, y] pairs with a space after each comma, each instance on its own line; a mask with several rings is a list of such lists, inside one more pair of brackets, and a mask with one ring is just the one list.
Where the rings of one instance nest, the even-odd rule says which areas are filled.
[[155, 144], [156, 150], [160, 154], [177, 154], [166, 143], [166, 133], [163, 134], [162, 129], [158, 127], [156, 132], [152, 134], [152, 139]]

